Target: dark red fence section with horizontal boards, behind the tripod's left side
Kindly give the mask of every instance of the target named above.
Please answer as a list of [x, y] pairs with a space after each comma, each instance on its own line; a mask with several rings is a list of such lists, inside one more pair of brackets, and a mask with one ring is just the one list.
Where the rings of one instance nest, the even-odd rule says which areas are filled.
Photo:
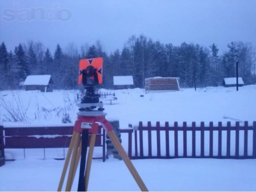
[[[3, 148], [68, 148], [73, 128], [73, 126], [3, 128]], [[102, 147], [101, 159], [105, 161], [105, 131], [101, 127], [96, 135], [95, 146]]]

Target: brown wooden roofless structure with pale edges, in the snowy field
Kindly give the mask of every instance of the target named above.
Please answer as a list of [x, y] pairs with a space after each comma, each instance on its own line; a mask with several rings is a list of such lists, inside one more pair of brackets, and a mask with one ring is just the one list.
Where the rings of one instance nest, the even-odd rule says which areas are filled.
[[146, 91], [179, 91], [180, 78], [178, 77], [153, 77], [145, 79]]

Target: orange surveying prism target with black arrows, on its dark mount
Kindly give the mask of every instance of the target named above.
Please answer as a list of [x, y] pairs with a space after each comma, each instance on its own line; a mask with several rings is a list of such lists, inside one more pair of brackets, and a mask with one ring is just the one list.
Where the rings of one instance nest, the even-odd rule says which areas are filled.
[[94, 87], [102, 83], [102, 69], [102, 58], [80, 60], [78, 83], [82, 83], [86, 89], [86, 94], [81, 99], [80, 111], [92, 111], [96, 107], [99, 107], [99, 111], [104, 110], [103, 104], [100, 103], [100, 95], [94, 92]]

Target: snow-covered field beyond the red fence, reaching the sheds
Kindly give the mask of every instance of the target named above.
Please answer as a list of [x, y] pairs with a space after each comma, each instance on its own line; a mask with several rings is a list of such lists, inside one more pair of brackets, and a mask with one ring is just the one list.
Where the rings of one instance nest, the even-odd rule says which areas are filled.
[[[173, 124], [177, 121], [195, 121], [206, 125], [213, 121], [224, 124], [228, 121], [256, 120], [256, 85], [239, 88], [207, 87], [182, 89], [178, 92], [145, 93], [143, 89], [129, 90], [100, 90], [114, 92], [117, 100], [102, 99], [106, 118], [119, 120], [120, 128], [127, 128], [129, 123], [138, 125], [139, 121], [161, 124], [168, 121]], [[80, 100], [78, 90], [54, 90], [42, 93], [40, 91], [1, 91], [0, 92], [0, 124], [10, 125], [14, 121], [12, 114], [19, 117], [19, 124], [61, 124], [65, 114], [70, 116], [72, 123], [76, 120], [76, 106]], [[141, 97], [143, 95], [143, 97]], [[10, 112], [8, 112], [9, 110]]]

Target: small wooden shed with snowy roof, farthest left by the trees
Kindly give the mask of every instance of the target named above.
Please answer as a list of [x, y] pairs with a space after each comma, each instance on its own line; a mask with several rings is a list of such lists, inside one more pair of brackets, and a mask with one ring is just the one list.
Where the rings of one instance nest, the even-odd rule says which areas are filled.
[[41, 92], [52, 92], [53, 81], [50, 75], [29, 75], [23, 83], [26, 91], [40, 90]]

